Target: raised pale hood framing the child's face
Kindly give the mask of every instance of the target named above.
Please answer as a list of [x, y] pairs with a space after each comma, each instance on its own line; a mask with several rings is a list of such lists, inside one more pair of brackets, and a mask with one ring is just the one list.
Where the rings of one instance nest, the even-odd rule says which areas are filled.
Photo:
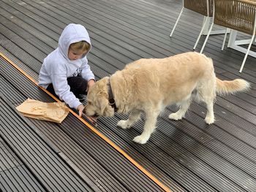
[[[59, 37], [58, 47], [61, 55], [63, 55], [64, 58], [70, 61], [68, 57], [69, 45], [71, 45], [74, 42], [80, 41], [86, 41], [91, 45], [91, 40], [86, 28], [80, 24], [74, 23], [71, 23], [68, 26], [66, 26], [61, 33], [61, 37]], [[84, 58], [89, 53], [89, 51], [85, 55], [83, 55], [82, 58]]]

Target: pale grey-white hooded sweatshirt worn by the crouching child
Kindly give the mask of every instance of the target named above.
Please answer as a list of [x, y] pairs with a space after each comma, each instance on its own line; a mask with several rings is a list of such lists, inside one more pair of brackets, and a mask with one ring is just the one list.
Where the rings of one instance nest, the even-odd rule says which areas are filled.
[[[69, 45], [74, 42], [86, 41], [91, 45], [90, 37], [86, 28], [80, 24], [69, 24], [64, 28], [59, 38], [59, 45], [45, 59], [39, 73], [39, 85], [47, 88], [53, 83], [53, 88], [59, 99], [63, 100], [69, 107], [78, 108], [79, 99], [70, 91], [67, 84], [67, 77], [76, 77], [81, 75], [85, 80], [89, 81], [94, 78], [86, 55], [77, 60], [69, 60]], [[88, 54], [89, 51], [86, 53]]]

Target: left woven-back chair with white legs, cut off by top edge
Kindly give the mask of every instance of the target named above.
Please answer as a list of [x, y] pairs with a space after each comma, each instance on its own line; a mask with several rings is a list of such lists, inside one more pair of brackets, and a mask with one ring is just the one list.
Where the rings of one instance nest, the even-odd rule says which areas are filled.
[[178, 19], [176, 20], [175, 25], [173, 26], [173, 30], [170, 33], [170, 37], [173, 36], [173, 32], [175, 31], [175, 28], [178, 24], [178, 20], [181, 18], [181, 14], [184, 11], [184, 8], [200, 13], [205, 17], [203, 20], [203, 26], [201, 28], [200, 34], [197, 37], [195, 46], [193, 47], [193, 50], [195, 50], [195, 47], [197, 47], [197, 43], [199, 42], [199, 39], [202, 36], [203, 31], [206, 31], [206, 27], [208, 26], [208, 23], [210, 22], [210, 19], [212, 17], [212, 0], [183, 0], [183, 7], [181, 9], [180, 14], [178, 15]]

